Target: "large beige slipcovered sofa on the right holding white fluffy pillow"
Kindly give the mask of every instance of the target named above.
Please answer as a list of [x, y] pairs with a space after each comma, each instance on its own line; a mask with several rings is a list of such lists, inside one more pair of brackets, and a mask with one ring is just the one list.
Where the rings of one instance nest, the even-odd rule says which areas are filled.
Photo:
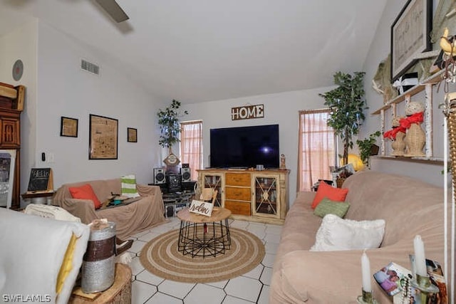
[[[390, 262], [410, 269], [413, 239], [420, 234], [426, 258], [444, 262], [443, 188], [409, 177], [366, 170], [343, 184], [351, 206], [346, 219], [385, 220], [380, 248], [366, 251], [371, 273]], [[361, 295], [362, 250], [309, 251], [322, 219], [311, 202], [316, 192], [300, 192], [286, 215], [271, 278], [271, 304], [356, 303]], [[372, 278], [375, 298], [391, 303]]]

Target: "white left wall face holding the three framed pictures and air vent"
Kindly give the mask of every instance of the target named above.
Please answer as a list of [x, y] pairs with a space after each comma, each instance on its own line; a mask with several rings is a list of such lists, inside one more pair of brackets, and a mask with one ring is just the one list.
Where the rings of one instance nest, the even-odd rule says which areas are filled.
[[[100, 76], [81, 70], [81, 58], [100, 65]], [[160, 162], [155, 113], [159, 101], [80, 41], [38, 24], [37, 167], [52, 167], [55, 185], [136, 174], [152, 182]], [[118, 159], [89, 160], [89, 115], [118, 119]], [[79, 120], [78, 137], [61, 137], [61, 116]], [[127, 142], [127, 127], [138, 129], [138, 142]], [[41, 152], [55, 162], [41, 161]]]

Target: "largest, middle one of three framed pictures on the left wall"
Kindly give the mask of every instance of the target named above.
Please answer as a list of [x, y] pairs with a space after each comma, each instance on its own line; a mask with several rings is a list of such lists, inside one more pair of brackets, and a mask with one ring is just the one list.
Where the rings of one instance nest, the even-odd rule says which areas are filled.
[[118, 120], [90, 114], [88, 159], [117, 159], [118, 130]]

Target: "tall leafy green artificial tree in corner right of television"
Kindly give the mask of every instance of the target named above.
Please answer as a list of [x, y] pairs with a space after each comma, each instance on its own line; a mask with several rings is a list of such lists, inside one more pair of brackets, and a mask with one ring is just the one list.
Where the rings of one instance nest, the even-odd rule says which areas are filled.
[[334, 74], [334, 84], [338, 88], [318, 94], [325, 99], [324, 104], [331, 111], [328, 126], [333, 128], [334, 134], [339, 135], [343, 142], [344, 164], [348, 162], [348, 149], [353, 148], [353, 136], [358, 134], [365, 118], [364, 110], [368, 108], [364, 99], [364, 74], [337, 72]]

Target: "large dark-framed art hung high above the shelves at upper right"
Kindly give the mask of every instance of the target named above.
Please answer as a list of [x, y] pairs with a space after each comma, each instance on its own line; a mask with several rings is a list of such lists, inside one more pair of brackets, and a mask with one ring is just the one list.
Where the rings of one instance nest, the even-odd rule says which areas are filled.
[[415, 63], [419, 53], [430, 51], [432, 0], [408, 0], [391, 26], [391, 82]]

